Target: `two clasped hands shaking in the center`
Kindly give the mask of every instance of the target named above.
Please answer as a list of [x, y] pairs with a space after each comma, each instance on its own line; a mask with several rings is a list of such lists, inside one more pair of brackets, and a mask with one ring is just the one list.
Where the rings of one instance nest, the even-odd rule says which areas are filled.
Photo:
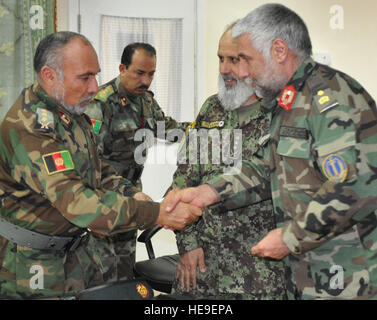
[[197, 221], [202, 215], [202, 208], [220, 201], [217, 191], [208, 184], [187, 189], [171, 190], [161, 202], [156, 224], [182, 230]]

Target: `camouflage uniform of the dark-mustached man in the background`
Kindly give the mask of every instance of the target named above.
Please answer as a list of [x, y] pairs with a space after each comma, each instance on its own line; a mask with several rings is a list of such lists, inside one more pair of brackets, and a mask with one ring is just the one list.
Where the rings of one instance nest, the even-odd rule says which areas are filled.
[[[130, 180], [138, 191], [142, 191], [141, 174], [144, 164], [135, 161], [135, 150], [143, 141], [135, 141], [139, 129], [148, 129], [157, 137], [157, 122], [161, 121], [166, 130], [185, 129], [188, 123], [178, 123], [166, 117], [147, 91], [140, 96], [128, 94], [120, 76], [102, 85], [86, 114], [91, 118], [93, 130], [100, 138], [100, 150], [104, 161], [116, 172]], [[165, 130], [162, 131], [165, 136]], [[146, 156], [144, 148], [142, 156]], [[138, 161], [140, 162], [140, 161]], [[137, 230], [117, 234], [103, 239], [104, 256], [108, 268], [116, 268], [118, 278], [132, 278], [135, 264]]]

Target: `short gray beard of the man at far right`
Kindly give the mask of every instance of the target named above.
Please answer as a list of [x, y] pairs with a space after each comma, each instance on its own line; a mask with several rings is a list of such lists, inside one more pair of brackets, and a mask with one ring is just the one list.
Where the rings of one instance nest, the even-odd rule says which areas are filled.
[[275, 98], [287, 83], [286, 76], [279, 73], [276, 63], [265, 58], [265, 69], [259, 80], [254, 79], [255, 93], [266, 100]]

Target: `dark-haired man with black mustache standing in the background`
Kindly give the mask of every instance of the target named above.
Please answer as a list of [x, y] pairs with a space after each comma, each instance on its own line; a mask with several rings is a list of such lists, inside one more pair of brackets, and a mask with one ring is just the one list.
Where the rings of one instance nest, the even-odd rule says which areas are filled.
[[[94, 132], [100, 138], [104, 161], [112, 165], [119, 175], [130, 180], [140, 192], [140, 177], [144, 168], [142, 158], [145, 159], [146, 150], [144, 148], [139, 157], [135, 154], [135, 150], [143, 143], [135, 139], [136, 132], [148, 129], [157, 137], [157, 125], [164, 125], [168, 131], [185, 130], [189, 124], [178, 123], [165, 116], [153, 98], [153, 93], [148, 91], [155, 70], [156, 50], [153, 46], [147, 43], [127, 45], [121, 57], [120, 75], [99, 88], [86, 111]], [[164, 134], [165, 130], [162, 131]], [[140, 193], [138, 199], [152, 201], [144, 193]], [[108, 260], [109, 275], [112, 274], [111, 269], [115, 268], [113, 271], [118, 278], [133, 277], [136, 236], [137, 230], [134, 230], [103, 239], [103, 255]]]

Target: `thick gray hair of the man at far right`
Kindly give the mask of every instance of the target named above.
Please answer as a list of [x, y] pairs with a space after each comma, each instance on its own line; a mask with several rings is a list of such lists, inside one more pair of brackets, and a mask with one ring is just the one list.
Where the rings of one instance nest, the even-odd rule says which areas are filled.
[[270, 57], [275, 39], [284, 40], [302, 60], [312, 55], [312, 44], [304, 21], [287, 7], [269, 3], [251, 11], [233, 27], [232, 36], [248, 33], [255, 49], [265, 59]]

